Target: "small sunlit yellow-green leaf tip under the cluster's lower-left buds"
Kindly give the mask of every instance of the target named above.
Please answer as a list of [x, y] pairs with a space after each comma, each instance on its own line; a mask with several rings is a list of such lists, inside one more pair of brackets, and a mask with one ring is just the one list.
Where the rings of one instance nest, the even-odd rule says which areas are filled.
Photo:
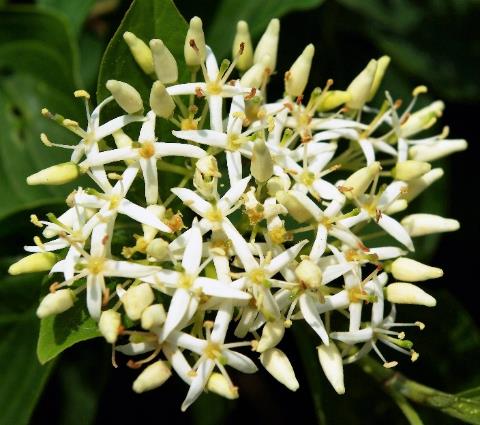
[[85, 303], [76, 302], [64, 313], [42, 319], [37, 345], [38, 359], [45, 364], [72, 345], [98, 336], [97, 323], [86, 311]]

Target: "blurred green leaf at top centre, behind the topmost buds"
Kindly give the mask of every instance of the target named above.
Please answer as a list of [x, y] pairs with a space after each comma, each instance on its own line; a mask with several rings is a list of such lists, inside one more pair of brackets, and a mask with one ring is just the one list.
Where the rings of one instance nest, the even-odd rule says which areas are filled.
[[252, 38], [257, 38], [265, 30], [272, 18], [281, 18], [292, 11], [308, 10], [320, 6], [325, 0], [224, 0], [218, 7], [207, 41], [218, 58], [229, 55], [235, 36], [237, 21], [248, 22]]

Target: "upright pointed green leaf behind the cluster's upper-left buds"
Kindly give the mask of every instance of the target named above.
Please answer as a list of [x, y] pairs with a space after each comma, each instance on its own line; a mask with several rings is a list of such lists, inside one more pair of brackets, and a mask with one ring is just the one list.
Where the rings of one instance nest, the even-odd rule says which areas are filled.
[[[105, 51], [100, 65], [97, 101], [110, 96], [105, 83], [115, 79], [134, 86], [148, 104], [152, 79], [143, 73], [130, 54], [123, 40], [125, 31], [133, 32], [146, 43], [153, 38], [162, 39], [175, 56], [179, 70], [185, 70], [183, 44], [187, 24], [171, 0], [135, 0]], [[181, 79], [182, 75], [179, 78]], [[112, 112], [112, 108], [107, 107], [104, 115], [108, 116]], [[116, 112], [119, 112], [118, 108]], [[168, 135], [168, 132], [160, 131], [160, 136], [163, 134]]]

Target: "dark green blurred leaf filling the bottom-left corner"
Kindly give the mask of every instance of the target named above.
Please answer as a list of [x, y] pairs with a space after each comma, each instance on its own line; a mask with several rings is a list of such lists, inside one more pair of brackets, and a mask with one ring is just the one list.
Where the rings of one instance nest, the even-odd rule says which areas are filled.
[[[3, 267], [2, 267], [3, 268]], [[38, 276], [3, 279], [0, 285], [0, 425], [26, 425], [53, 369], [35, 356]]]

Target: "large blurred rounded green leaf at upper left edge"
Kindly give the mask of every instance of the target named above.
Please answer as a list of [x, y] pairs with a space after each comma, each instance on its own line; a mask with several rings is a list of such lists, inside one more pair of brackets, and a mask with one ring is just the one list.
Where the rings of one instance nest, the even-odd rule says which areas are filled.
[[80, 102], [68, 94], [76, 86], [76, 53], [69, 40], [65, 22], [52, 13], [22, 8], [0, 15], [0, 219], [59, 202], [71, 190], [25, 182], [28, 175], [69, 157], [39, 140], [41, 132], [60, 143], [74, 140], [41, 116], [42, 107], [73, 119], [82, 114]]

